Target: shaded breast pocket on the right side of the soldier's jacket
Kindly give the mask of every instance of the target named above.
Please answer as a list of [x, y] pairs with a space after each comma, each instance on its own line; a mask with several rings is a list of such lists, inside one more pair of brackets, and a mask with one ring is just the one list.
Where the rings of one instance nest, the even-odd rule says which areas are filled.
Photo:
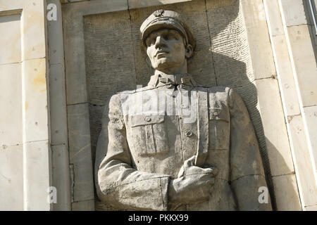
[[230, 117], [225, 108], [209, 108], [209, 148], [229, 149]]

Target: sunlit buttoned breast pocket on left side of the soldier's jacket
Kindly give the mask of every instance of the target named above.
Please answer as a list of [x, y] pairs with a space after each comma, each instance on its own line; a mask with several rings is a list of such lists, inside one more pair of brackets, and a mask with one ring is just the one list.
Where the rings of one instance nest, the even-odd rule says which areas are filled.
[[131, 117], [133, 146], [138, 155], [168, 153], [168, 135], [163, 115]]

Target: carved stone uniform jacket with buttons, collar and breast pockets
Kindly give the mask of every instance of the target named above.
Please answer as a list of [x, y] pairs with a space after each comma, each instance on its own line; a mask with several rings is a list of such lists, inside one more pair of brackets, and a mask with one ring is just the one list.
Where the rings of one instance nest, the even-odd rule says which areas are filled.
[[[96, 167], [97, 193], [107, 205], [121, 210], [271, 210], [270, 200], [259, 203], [259, 187], [266, 186], [259, 144], [233, 89], [201, 86], [190, 75], [153, 75], [146, 87], [115, 94], [107, 106]], [[170, 205], [168, 182], [193, 155], [197, 166], [218, 169], [211, 196]]]

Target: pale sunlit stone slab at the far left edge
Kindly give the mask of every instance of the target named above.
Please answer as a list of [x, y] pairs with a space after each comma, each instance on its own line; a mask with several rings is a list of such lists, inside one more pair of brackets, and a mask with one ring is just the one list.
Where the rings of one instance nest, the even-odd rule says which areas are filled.
[[23, 210], [21, 11], [1, 9], [0, 210]]

